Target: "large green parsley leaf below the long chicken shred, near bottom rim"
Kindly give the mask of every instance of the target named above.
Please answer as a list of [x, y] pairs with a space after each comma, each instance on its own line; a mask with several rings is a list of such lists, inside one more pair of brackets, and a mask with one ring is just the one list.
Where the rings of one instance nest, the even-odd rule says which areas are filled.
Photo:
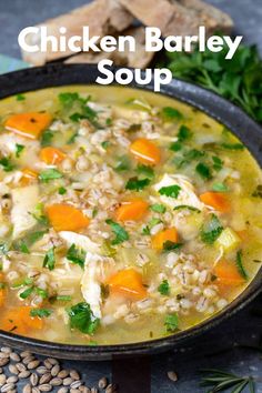
[[84, 334], [93, 334], [100, 320], [95, 318], [88, 303], [82, 302], [67, 309], [71, 329], [77, 329]]

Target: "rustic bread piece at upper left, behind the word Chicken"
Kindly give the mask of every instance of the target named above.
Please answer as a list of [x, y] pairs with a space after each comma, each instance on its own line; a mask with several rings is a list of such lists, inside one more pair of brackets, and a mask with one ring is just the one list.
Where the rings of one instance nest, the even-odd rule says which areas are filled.
[[[127, 29], [132, 21], [133, 17], [117, 0], [95, 0], [69, 13], [49, 19], [38, 27], [47, 27], [48, 36], [53, 36], [57, 39], [61, 36], [60, 27], [64, 27], [67, 29], [64, 37], [68, 41], [72, 36], [82, 37], [83, 26], [89, 27], [90, 37], [100, 36], [102, 38], [109, 33]], [[31, 33], [27, 37], [28, 44], [40, 44], [40, 33]], [[63, 52], [52, 52], [49, 47], [47, 52], [40, 50], [34, 53], [22, 51], [22, 58], [33, 66], [42, 66], [48, 61], [66, 58], [72, 53], [69, 49]]]

